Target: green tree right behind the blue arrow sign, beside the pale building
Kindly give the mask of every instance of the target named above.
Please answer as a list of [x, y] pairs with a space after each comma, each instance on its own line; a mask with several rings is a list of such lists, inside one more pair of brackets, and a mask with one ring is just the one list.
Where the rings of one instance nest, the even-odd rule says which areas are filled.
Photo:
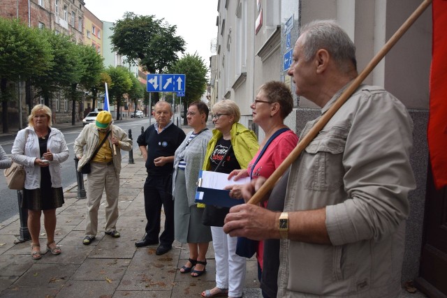
[[183, 103], [183, 121], [186, 123], [186, 111], [188, 106], [195, 100], [199, 100], [207, 89], [207, 73], [208, 68], [202, 57], [197, 52], [193, 55], [186, 54], [179, 59], [170, 69], [170, 73], [182, 73], [186, 75], [185, 93], [182, 100]]

